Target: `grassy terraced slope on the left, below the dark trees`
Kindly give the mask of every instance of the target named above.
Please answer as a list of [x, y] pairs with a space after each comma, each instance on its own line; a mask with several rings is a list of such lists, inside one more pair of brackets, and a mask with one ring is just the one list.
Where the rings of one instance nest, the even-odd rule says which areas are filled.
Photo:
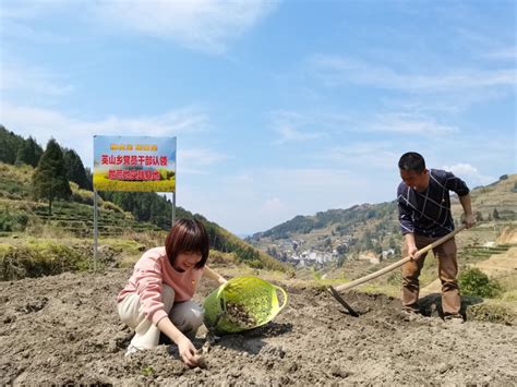
[[[72, 199], [59, 201], [48, 214], [46, 202], [34, 201], [31, 195], [31, 178], [34, 168], [27, 165], [12, 166], [0, 162], [0, 245], [1, 238], [17, 239], [37, 235], [62, 235], [62, 238], [93, 238], [93, 192], [82, 190], [71, 183]], [[164, 199], [165, 201], [165, 199]], [[141, 221], [122, 207], [99, 198], [98, 230], [100, 238], [117, 237], [131, 239], [143, 232], [161, 233], [165, 240], [167, 228]], [[170, 227], [170, 205], [166, 208]], [[231, 253], [238, 262], [252, 267], [285, 270], [286, 267], [266, 253], [237, 238], [229, 231], [199, 214], [177, 207], [177, 218], [197, 218], [206, 227], [211, 247], [223, 253]], [[0, 254], [1, 255], [1, 254]], [[0, 256], [1, 261], [1, 256]]]

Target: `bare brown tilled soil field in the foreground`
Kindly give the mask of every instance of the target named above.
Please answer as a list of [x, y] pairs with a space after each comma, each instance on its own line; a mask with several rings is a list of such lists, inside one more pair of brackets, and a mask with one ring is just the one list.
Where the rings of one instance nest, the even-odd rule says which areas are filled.
[[[115, 297], [129, 269], [0, 283], [0, 385], [517, 384], [515, 326], [407, 318], [384, 295], [347, 294], [351, 317], [325, 291], [288, 287], [277, 318], [207, 343], [206, 368], [189, 368], [175, 346], [124, 356], [132, 332]], [[282, 286], [282, 283], [278, 283]], [[212, 290], [202, 282], [196, 300]]]

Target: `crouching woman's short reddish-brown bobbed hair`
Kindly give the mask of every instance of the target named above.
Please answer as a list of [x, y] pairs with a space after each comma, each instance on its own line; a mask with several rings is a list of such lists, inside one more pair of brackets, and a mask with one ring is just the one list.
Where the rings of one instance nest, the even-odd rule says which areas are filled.
[[178, 219], [165, 240], [165, 251], [171, 265], [181, 253], [200, 253], [202, 258], [195, 268], [202, 268], [208, 259], [209, 241], [203, 223], [196, 219]]

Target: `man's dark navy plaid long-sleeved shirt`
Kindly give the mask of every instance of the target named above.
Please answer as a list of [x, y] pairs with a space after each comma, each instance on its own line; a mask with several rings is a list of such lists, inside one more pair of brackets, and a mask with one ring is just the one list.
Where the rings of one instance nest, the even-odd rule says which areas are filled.
[[398, 220], [402, 234], [412, 232], [437, 238], [454, 230], [448, 192], [453, 191], [458, 196], [465, 196], [469, 193], [469, 189], [452, 172], [430, 169], [429, 177], [429, 186], [423, 192], [407, 186], [404, 181], [398, 185]]

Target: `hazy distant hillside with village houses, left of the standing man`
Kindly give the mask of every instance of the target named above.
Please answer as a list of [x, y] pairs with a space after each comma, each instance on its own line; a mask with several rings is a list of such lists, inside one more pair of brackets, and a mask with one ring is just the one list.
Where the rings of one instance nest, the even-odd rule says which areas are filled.
[[342, 263], [361, 252], [382, 254], [393, 249], [394, 254], [399, 238], [396, 202], [386, 202], [297, 216], [247, 241], [280, 261], [298, 257], [304, 264], [324, 265]]

